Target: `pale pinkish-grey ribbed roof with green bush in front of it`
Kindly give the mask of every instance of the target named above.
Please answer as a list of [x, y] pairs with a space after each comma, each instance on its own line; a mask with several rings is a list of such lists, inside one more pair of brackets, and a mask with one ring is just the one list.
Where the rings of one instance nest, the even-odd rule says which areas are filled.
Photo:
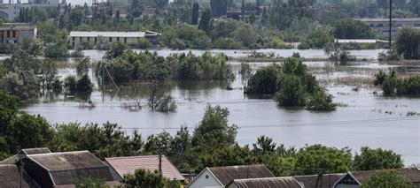
[[[115, 169], [120, 177], [128, 174], [133, 175], [136, 169], [147, 169], [151, 172], [159, 170], [159, 155], [113, 157], [106, 158], [105, 161]], [[162, 176], [169, 180], [185, 179], [181, 172], [164, 155], [162, 156]]]

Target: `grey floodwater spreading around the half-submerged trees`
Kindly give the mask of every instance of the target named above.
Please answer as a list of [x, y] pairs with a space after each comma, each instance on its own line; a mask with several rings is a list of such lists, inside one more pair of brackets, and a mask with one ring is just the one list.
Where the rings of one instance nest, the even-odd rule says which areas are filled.
[[[291, 52], [285, 50], [278, 53]], [[358, 53], [360, 56], [365, 54]], [[229, 64], [234, 71], [240, 70], [240, 63]], [[241, 145], [252, 144], [259, 136], [267, 135], [286, 147], [323, 144], [350, 147], [354, 152], [364, 146], [382, 147], [402, 154], [406, 165], [420, 162], [420, 116], [407, 115], [408, 112], [420, 113], [420, 100], [385, 97], [379, 88], [370, 84], [378, 70], [393, 68], [400, 73], [413, 74], [420, 71], [420, 65], [375, 62], [306, 64], [317, 79], [327, 86], [329, 93], [334, 95], [334, 102], [341, 104], [336, 111], [319, 113], [280, 108], [273, 100], [247, 97], [243, 94], [246, 79], [239, 75], [231, 83], [234, 88], [231, 91], [225, 90], [227, 84], [224, 82], [167, 83], [159, 86], [159, 92], [175, 97], [178, 103], [175, 113], [152, 112], [147, 108], [139, 111], [121, 108], [124, 102], [145, 102], [150, 87], [142, 84], [121, 86], [118, 93], [107, 88], [103, 94], [97, 88], [90, 97], [97, 105], [93, 109], [80, 108], [79, 102], [51, 94], [24, 110], [40, 114], [52, 124], [110, 121], [120, 124], [128, 132], [137, 129], [148, 135], [163, 130], [175, 133], [180, 126], [187, 126], [192, 132], [203, 117], [206, 105], [221, 105], [230, 111], [229, 124], [239, 127], [237, 141]], [[268, 63], [251, 64], [253, 70], [266, 65]], [[59, 72], [62, 75], [75, 73], [72, 68], [63, 68]], [[95, 78], [92, 70], [89, 76]]]

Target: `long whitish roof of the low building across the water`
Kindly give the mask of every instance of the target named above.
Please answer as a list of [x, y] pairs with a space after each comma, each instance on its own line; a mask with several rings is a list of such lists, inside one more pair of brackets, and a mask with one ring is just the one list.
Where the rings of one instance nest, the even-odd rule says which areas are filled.
[[81, 32], [81, 31], [72, 31], [70, 32], [70, 37], [144, 37], [145, 32]]

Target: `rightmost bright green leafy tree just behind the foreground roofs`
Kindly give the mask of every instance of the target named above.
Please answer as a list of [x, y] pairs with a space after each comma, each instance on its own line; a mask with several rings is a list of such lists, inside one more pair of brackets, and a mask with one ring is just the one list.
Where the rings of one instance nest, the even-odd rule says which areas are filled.
[[362, 147], [361, 154], [354, 156], [355, 170], [400, 169], [402, 167], [404, 163], [401, 154], [395, 154], [392, 150]]

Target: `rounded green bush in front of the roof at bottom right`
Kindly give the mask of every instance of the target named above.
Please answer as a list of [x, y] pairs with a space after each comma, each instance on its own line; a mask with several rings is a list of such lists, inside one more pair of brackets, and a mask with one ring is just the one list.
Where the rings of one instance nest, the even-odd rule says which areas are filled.
[[399, 172], [388, 169], [377, 171], [362, 184], [362, 188], [374, 187], [414, 188], [416, 185], [412, 184], [407, 177], [403, 177]]

